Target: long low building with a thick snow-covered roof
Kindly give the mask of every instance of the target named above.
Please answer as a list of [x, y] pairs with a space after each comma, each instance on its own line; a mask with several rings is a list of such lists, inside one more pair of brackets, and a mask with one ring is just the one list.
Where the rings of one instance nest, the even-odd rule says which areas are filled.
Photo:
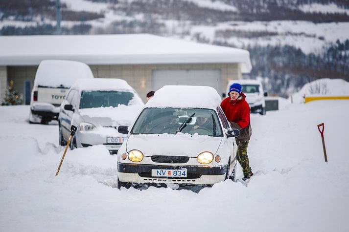
[[[163, 85], [207, 85], [225, 94], [229, 81], [252, 69], [247, 50], [150, 34], [0, 37], [0, 97], [7, 82], [30, 102], [42, 60], [87, 63], [95, 78], [120, 78], [140, 96]], [[1, 101], [0, 100], [0, 101]]]

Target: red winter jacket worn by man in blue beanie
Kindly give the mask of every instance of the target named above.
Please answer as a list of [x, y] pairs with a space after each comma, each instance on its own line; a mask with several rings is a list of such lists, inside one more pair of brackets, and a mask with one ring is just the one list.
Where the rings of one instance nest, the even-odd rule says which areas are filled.
[[245, 100], [246, 95], [241, 92], [241, 96], [232, 101], [230, 97], [224, 99], [221, 103], [224, 114], [233, 126], [238, 126], [240, 135], [237, 141], [249, 141], [252, 129], [250, 125], [250, 105]]

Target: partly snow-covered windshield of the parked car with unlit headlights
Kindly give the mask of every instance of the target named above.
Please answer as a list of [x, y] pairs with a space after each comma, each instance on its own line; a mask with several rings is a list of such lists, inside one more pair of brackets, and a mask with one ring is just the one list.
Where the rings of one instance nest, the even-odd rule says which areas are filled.
[[82, 91], [80, 109], [129, 105], [134, 94], [126, 91]]

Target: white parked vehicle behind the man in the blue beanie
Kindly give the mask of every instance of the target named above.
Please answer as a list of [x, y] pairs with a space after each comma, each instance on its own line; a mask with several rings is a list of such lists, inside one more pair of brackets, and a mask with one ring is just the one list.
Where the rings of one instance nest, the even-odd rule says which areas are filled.
[[227, 86], [227, 93], [233, 83], [241, 84], [242, 92], [246, 95], [246, 101], [250, 105], [251, 113], [265, 115], [265, 99], [268, 93], [263, 91], [262, 84], [257, 80], [233, 80]]

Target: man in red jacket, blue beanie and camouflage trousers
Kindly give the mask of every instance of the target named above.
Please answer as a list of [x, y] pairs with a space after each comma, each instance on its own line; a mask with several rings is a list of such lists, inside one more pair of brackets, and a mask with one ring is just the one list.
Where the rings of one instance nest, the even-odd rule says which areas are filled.
[[250, 106], [245, 100], [246, 96], [241, 92], [241, 84], [234, 83], [230, 86], [228, 97], [221, 103], [224, 114], [233, 128], [240, 130], [235, 138], [237, 144], [237, 161], [239, 161], [244, 173], [244, 181], [253, 173], [247, 156], [247, 146], [251, 138], [252, 128], [250, 124]]

